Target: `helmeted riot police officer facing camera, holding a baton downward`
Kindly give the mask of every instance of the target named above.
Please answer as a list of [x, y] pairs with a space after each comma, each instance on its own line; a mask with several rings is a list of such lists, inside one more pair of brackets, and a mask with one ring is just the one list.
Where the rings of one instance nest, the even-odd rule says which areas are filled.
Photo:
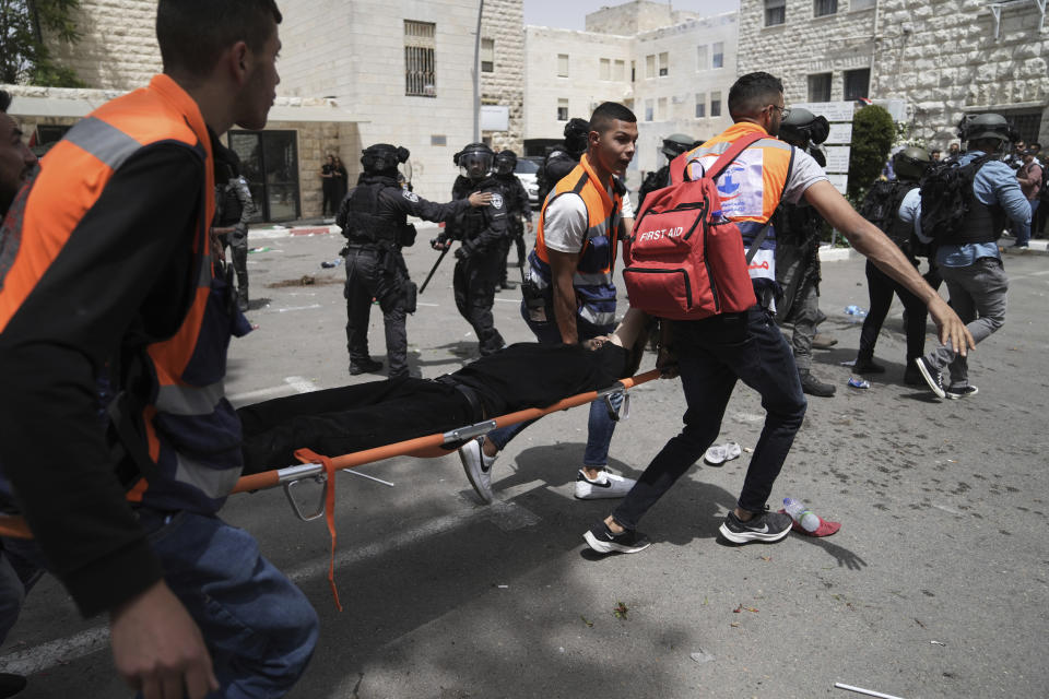
[[453, 162], [460, 175], [452, 187], [452, 198], [460, 200], [485, 193], [491, 205], [467, 211], [433, 241], [437, 250], [446, 250], [453, 239], [462, 242], [456, 250], [458, 261], [452, 281], [456, 306], [473, 327], [481, 356], [498, 352], [506, 344], [492, 319], [503, 262], [503, 239], [507, 235], [506, 203], [499, 181], [492, 177], [495, 153], [484, 143], [471, 143], [456, 153]]

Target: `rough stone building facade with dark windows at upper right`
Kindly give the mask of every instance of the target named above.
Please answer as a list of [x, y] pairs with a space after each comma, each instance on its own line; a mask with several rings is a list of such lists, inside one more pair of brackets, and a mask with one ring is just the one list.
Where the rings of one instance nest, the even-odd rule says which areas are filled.
[[1047, 143], [1044, 22], [1035, 2], [741, 0], [739, 71], [781, 76], [788, 103], [903, 99], [911, 137], [930, 146], [980, 111]]

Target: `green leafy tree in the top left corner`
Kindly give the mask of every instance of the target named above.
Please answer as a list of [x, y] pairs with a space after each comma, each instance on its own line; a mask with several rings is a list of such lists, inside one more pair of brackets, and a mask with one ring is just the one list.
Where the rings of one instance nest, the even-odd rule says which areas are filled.
[[0, 82], [83, 87], [72, 69], [55, 62], [45, 42], [80, 38], [73, 21], [79, 7], [80, 0], [0, 0]]

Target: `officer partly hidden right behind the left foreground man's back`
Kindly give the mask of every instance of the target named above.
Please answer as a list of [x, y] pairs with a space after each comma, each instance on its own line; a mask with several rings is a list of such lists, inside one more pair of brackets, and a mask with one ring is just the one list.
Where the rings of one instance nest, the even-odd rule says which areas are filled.
[[240, 158], [223, 146], [215, 151], [215, 233], [223, 254], [228, 247], [237, 274], [237, 306], [248, 310], [248, 221], [256, 213]]

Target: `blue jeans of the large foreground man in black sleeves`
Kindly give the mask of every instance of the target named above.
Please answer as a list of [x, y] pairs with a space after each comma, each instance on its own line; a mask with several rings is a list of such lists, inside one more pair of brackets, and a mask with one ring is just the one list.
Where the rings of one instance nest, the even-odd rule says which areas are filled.
[[209, 697], [283, 697], [317, 643], [306, 595], [259, 554], [255, 538], [216, 517], [141, 510], [164, 581], [200, 627], [222, 689]]

